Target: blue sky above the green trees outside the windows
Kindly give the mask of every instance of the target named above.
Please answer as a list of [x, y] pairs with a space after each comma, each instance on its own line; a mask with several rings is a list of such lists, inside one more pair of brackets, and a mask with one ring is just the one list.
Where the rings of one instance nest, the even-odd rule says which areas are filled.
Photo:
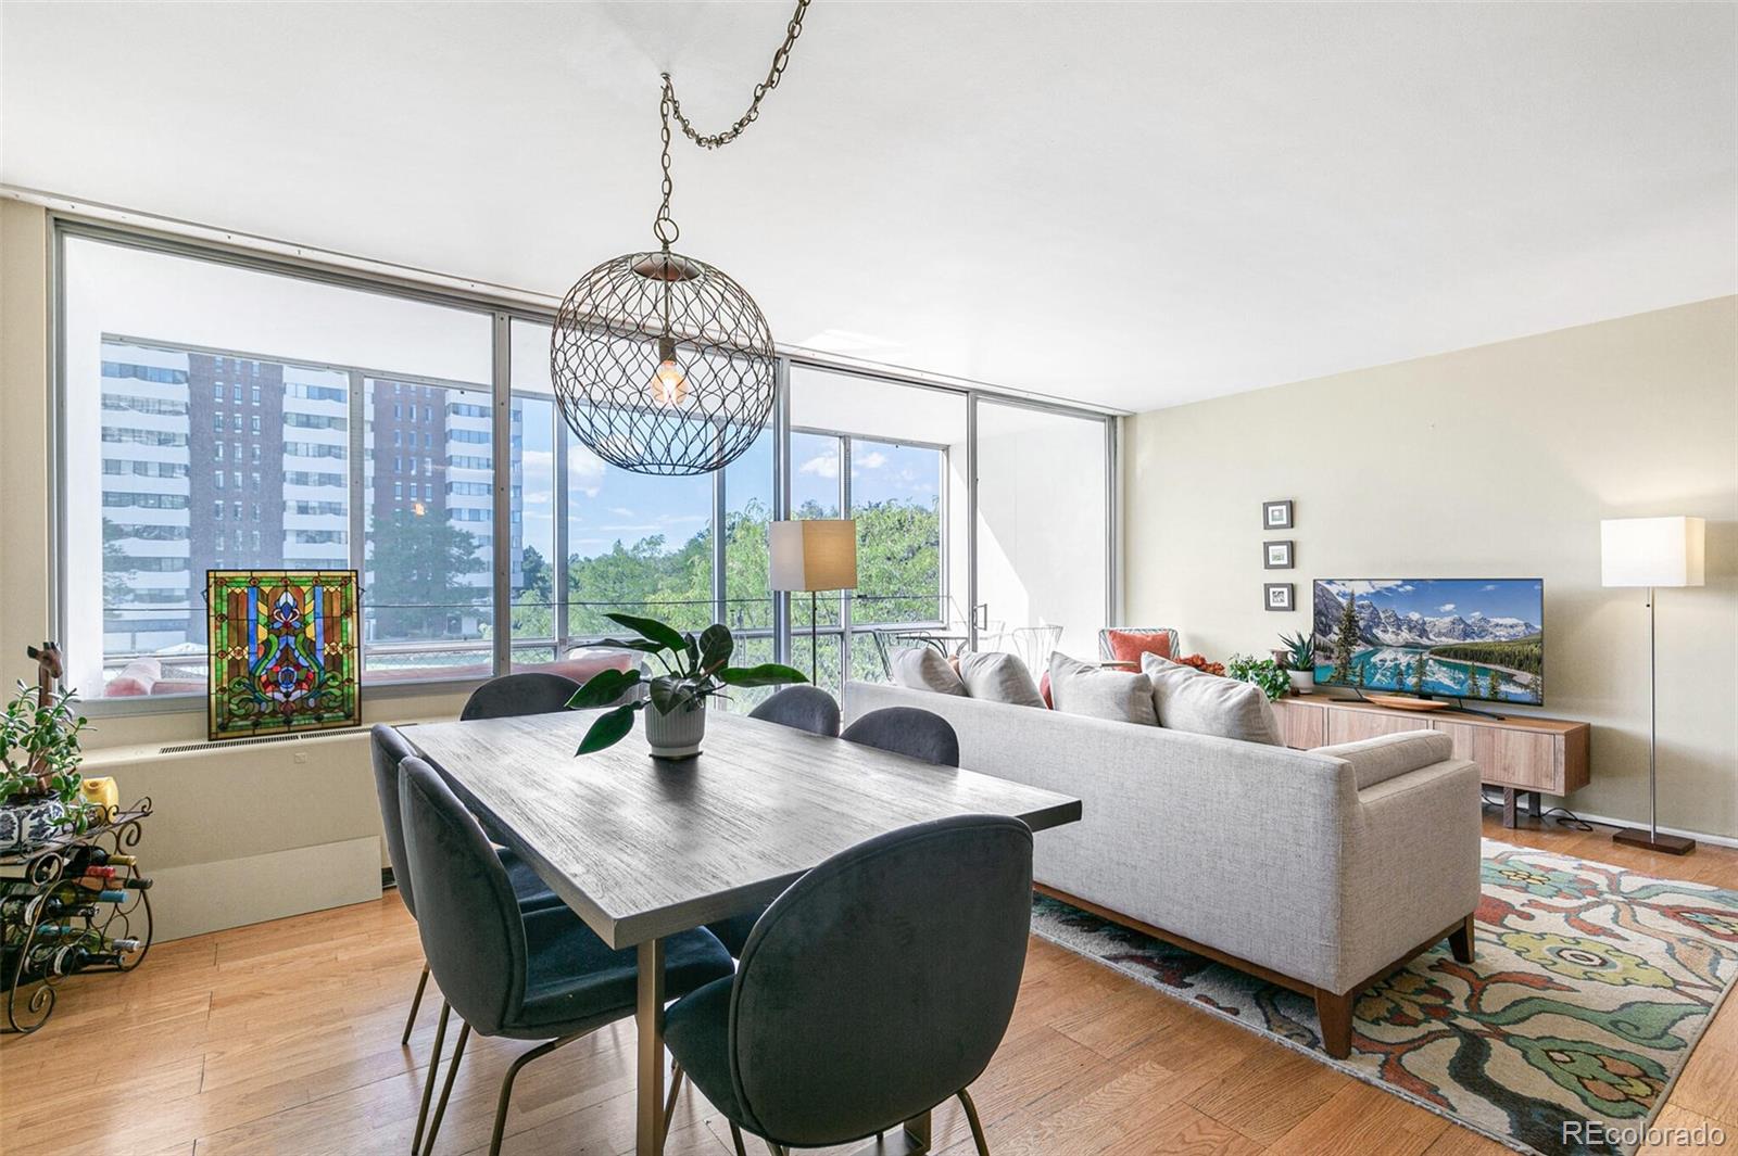
[[[525, 545], [546, 557], [554, 543], [554, 455], [549, 437], [549, 403], [525, 403], [523, 424], [523, 529]], [[838, 439], [819, 434], [791, 437], [791, 498], [817, 500], [838, 509]], [[751, 498], [772, 503], [772, 434], [761, 434], [725, 472], [725, 500], [742, 509]], [[852, 498], [857, 503], [899, 498], [928, 505], [940, 493], [940, 455], [935, 450], [857, 441], [852, 456]], [[674, 550], [706, 529], [713, 509], [713, 479], [648, 477], [605, 465], [584, 446], [568, 446], [568, 550], [607, 554], [620, 540], [633, 545], [664, 535]]]

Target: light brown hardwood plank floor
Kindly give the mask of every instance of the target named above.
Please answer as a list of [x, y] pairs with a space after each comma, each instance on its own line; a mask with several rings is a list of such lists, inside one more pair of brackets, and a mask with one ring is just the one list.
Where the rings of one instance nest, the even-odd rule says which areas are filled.
[[[1608, 833], [1505, 831], [1491, 819], [1486, 835], [1738, 889], [1738, 851], [1675, 859]], [[401, 1048], [421, 960], [410, 916], [388, 896], [158, 944], [122, 979], [75, 977], [40, 1034], [0, 1043], [0, 1151], [405, 1153], [438, 1008], [431, 984]], [[473, 1040], [438, 1153], [487, 1149], [501, 1074], [525, 1047]], [[1039, 939], [973, 1095], [996, 1156], [1507, 1151]], [[1660, 1120], [1702, 1121], [1738, 1149], [1738, 998]], [[615, 1156], [633, 1149], [633, 1024], [622, 1022], [525, 1069], [504, 1151]], [[937, 1111], [935, 1135], [949, 1156], [973, 1151], [958, 1104]], [[667, 1151], [728, 1156], [728, 1132], [685, 1092]]]

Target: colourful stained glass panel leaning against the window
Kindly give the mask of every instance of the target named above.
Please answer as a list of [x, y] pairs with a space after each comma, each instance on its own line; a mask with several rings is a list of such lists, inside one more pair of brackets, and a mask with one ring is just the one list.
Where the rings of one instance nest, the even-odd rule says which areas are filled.
[[212, 569], [210, 738], [362, 722], [356, 571]]

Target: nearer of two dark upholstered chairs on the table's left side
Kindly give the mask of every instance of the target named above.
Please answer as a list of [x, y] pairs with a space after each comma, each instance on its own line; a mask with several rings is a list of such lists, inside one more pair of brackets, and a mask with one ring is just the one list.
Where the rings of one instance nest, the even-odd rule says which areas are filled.
[[[428, 1146], [422, 1154], [433, 1153], [473, 1031], [509, 1040], [546, 1040], [513, 1061], [501, 1081], [495, 1132], [488, 1146], [494, 1156], [501, 1151], [520, 1067], [634, 1014], [634, 951], [612, 951], [565, 906], [521, 911], [483, 828], [421, 759], [412, 755], [400, 765], [398, 795], [405, 856], [415, 882], [417, 934], [445, 996], [412, 1153], [422, 1144], [424, 1123]], [[730, 977], [730, 956], [706, 930], [671, 936], [664, 951], [664, 986], [671, 995]], [[459, 1012], [462, 1026], [440, 1104], [429, 1118], [441, 1040], [452, 1012]], [[674, 1095], [666, 1114], [673, 1109]]]

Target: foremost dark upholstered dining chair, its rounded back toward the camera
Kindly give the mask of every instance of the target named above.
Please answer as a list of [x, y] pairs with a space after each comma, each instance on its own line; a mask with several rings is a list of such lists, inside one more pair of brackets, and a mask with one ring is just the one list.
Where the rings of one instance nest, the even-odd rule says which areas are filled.
[[1031, 922], [1018, 819], [892, 831], [779, 896], [737, 974], [669, 1008], [664, 1041], [739, 1154], [742, 1130], [775, 1153], [848, 1144], [958, 1095], [987, 1156], [966, 1088], [1008, 1029]]

